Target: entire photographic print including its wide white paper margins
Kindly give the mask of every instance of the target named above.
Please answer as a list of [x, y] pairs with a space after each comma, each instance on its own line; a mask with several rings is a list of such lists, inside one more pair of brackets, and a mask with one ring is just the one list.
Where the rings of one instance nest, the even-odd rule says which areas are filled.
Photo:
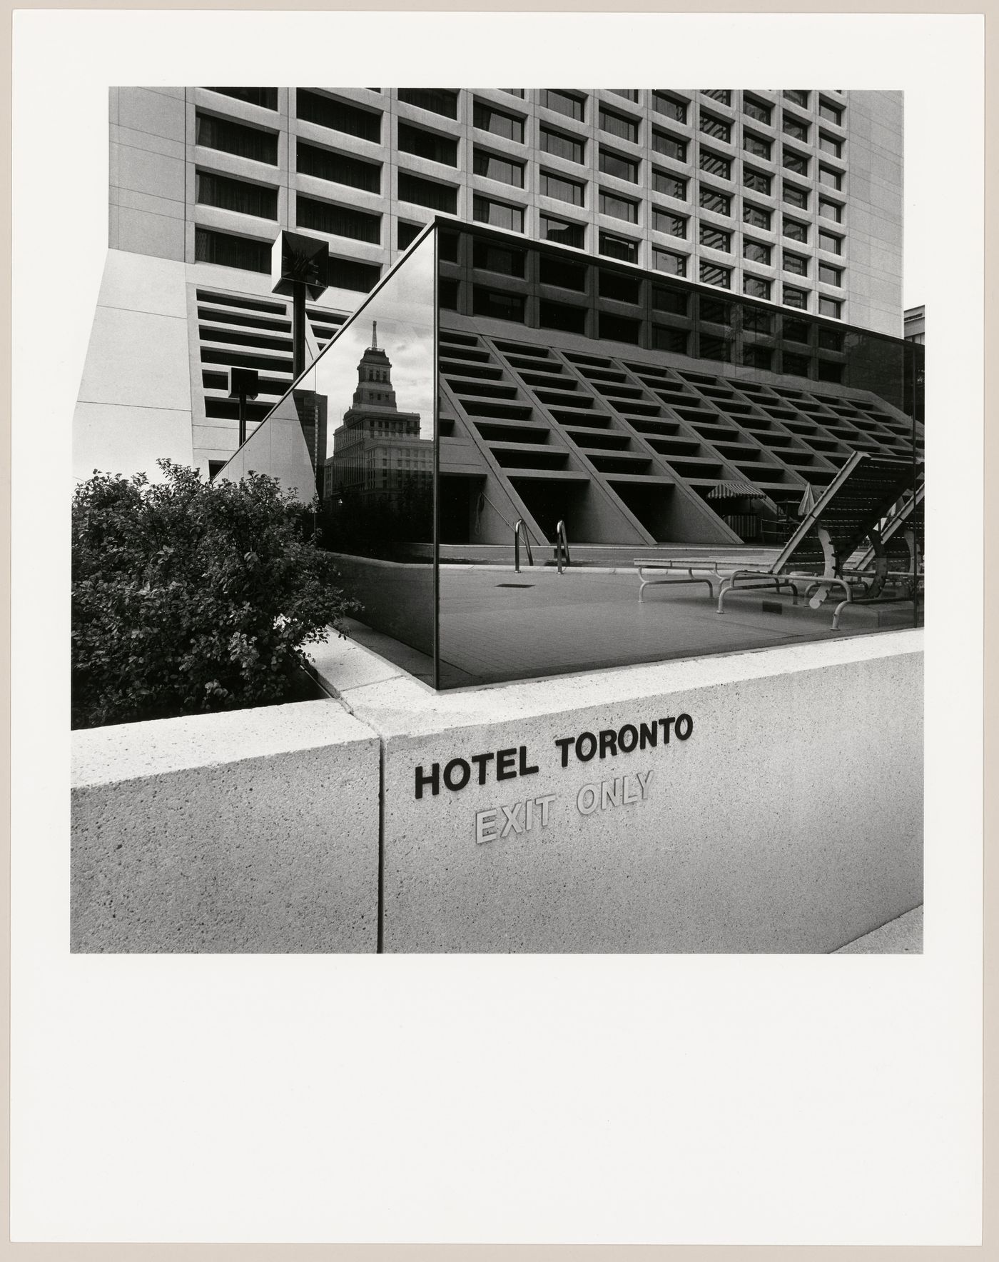
[[[112, 1102], [57, 1228], [74, 1239], [970, 1241], [975, 30], [570, 16], [575, 52], [555, 14], [21, 25], [15, 103], [54, 139], [43, 156], [21, 124], [15, 145], [15, 943], [25, 968], [49, 960], [53, 1011], [100, 1034], [78, 1064], [43, 1055], [54, 991], [38, 989], [21, 1064], [58, 1085], [25, 1094], [14, 1132], [72, 1132], [62, 1166]], [[950, 96], [920, 77], [935, 38]], [[78, 91], [72, 124], [43, 110], [40, 57]], [[537, 86], [618, 77], [632, 86]], [[529, 86], [482, 86], [497, 80]], [[935, 167], [945, 96], [973, 121]], [[78, 246], [43, 236], [49, 189], [78, 198]], [[59, 308], [73, 336], [52, 353]], [[97, 1063], [119, 1021], [135, 1055], [115, 1082]], [[178, 1053], [197, 1027], [202, 1051], [198, 1035]], [[950, 1060], [930, 1027], [951, 1031]], [[650, 1124], [677, 1131], [650, 1165], [657, 1055], [674, 1076]], [[129, 1212], [93, 1193], [102, 1160], [122, 1169], [126, 1092], [155, 1094], [169, 1056], [143, 1150], [174, 1133], [168, 1108], [179, 1124], [209, 1098], [207, 1079], [178, 1094], [204, 1056], [209, 1076], [233, 1064], [219, 1152], [238, 1146], [243, 1123], [221, 1123], [237, 1090], [260, 1080], [274, 1109], [298, 1084], [301, 1116], [261, 1132], [294, 1150], [272, 1204], [246, 1137], [225, 1175], [242, 1190], [214, 1204], [196, 1186], [207, 1150]], [[928, 1161], [931, 1061], [950, 1104]], [[414, 1104], [421, 1073], [436, 1085]], [[742, 1074], [759, 1087], [735, 1102]], [[812, 1106], [825, 1146], [821, 1127], [802, 1138]], [[492, 1220], [468, 1170], [448, 1217], [429, 1155], [448, 1165], [494, 1129], [493, 1170], [520, 1152], [521, 1107], [536, 1151], [517, 1180], [550, 1142], [551, 1203], [511, 1193]], [[906, 1152], [863, 1193], [844, 1165], [862, 1112], [858, 1143], [892, 1129]], [[576, 1164], [584, 1114], [609, 1119], [600, 1170], [632, 1152], [604, 1181]], [[353, 1155], [320, 1143], [334, 1117]], [[798, 1141], [825, 1174], [793, 1210], [729, 1195], [722, 1228], [706, 1153], [682, 1155], [701, 1127], [732, 1128], [753, 1179], [788, 1171]], [[386, 1188], [420, 1167], [391, 1208], [365, 1174], [386, 1148]], [[959, 1151], [960, 1193], [917, 1196]], [[13, 1191], [25, 1239], [49, 1220], [33, 1169]], [[626, 1190], [640, 1169], [676, 1194]], [[826, 1179], [849, 1205], [829, 1230]]]

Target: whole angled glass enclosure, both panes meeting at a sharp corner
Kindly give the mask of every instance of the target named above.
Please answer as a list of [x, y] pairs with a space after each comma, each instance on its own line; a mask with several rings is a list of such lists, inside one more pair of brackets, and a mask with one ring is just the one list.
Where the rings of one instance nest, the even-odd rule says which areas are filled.
[[922, 347], [454, 220], [251, 468], [315, 495], [352, 634], [435, 688], [922, 616]]

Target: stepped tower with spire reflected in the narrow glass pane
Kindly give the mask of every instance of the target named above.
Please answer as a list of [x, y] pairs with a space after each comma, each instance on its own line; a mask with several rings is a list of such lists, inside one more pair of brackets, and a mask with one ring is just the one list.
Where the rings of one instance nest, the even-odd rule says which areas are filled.
[[433, 473], [434, 440], [420, 438], [418, 411], [399, 409], [392, 362], [378, 346], [375, 321], [371, 346], [357, 365], [353, 400], [333, 432], [323, 495], [359, 492], [366, 500], [397, 496], [409, 486], [429, 486]]

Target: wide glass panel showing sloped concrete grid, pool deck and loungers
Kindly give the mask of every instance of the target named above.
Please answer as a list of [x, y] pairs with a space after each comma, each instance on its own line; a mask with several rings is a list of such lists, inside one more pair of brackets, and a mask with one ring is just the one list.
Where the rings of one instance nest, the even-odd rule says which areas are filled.
[[918, 617], [921, 380], [899, 338], [438, 231], [439, 687]]

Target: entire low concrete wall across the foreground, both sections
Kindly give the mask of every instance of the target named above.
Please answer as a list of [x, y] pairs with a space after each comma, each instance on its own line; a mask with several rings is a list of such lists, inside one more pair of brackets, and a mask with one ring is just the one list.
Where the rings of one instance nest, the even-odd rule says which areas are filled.
[[921, 632], [447, 694], [315, 660], [342, 704], [74, 733], [74, 952], [375, 952], [380, 844], [390, 953], [825, 953], [922, 901]]

